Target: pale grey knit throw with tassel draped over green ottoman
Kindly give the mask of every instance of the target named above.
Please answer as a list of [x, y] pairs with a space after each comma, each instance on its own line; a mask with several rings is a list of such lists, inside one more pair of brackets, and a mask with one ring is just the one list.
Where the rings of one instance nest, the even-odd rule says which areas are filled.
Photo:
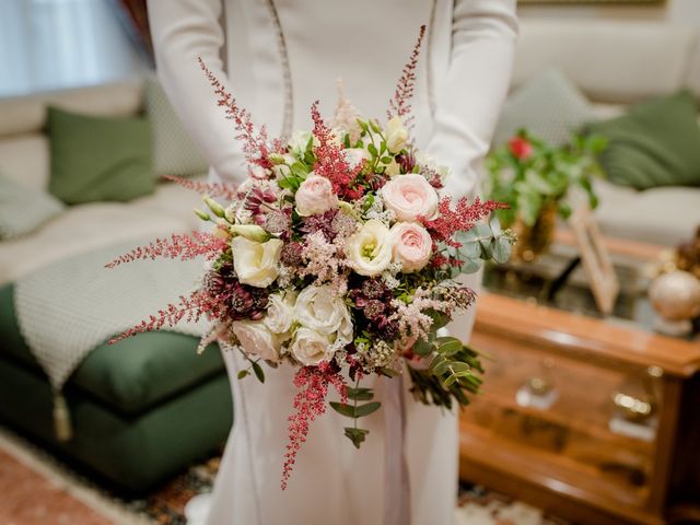
[[[203, 272], [201, 260], [156, 259], [104, 267], [148, 241], [72, 256], [15, 283], [20, 331], [54, 388], [56, 431], [61, 440], [71, 436], [61, 390], [72, 372], [92, 350], [192, 291]], [[171, 330], [201, 336], [206, 325], [203, 320], [180, 323]]]

